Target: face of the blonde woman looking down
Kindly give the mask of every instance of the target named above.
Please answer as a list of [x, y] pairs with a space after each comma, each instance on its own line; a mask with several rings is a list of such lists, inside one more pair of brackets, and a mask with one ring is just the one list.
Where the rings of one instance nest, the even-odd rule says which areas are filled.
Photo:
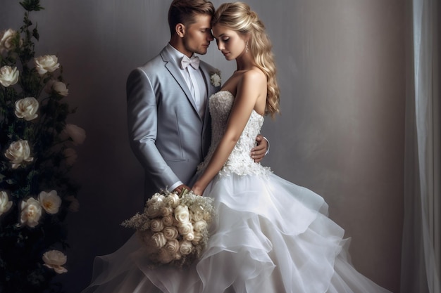
[[216, 38], [219, 50], [227, 60], [234, 60], [245, 53], [247, 41], [235, 30], [230, 30], [223, 25], [214, 25], [213, 37]]

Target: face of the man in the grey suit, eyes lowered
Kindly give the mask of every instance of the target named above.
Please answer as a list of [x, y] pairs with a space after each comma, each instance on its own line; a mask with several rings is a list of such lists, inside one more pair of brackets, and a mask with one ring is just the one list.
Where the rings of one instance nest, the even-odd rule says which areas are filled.
[[182, 39], [185, 51], [188, 53], [198, 53], [204, 55], [213, 41], [211, 34], [211, 16], [200, 14], [194, 17], [192, 25], [185, 27], [185, 34]]

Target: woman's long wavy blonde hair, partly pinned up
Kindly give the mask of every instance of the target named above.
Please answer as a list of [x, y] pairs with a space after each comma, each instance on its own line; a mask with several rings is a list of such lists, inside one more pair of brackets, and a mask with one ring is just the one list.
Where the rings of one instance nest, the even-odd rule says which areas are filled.
[[225, 3], [219, 6], [211, 19], [211, 26], [223, 25], [230, 30], [249, 36], [249, 51], [254, 62], [267, 79], [266, 92], [266, 114], [271, 117], [278, 112], [280, 89], [275, 77], [275, 61], [273, 48], [268, 35], [265, 32], [265, 25], [248, 4], [243, 2]]

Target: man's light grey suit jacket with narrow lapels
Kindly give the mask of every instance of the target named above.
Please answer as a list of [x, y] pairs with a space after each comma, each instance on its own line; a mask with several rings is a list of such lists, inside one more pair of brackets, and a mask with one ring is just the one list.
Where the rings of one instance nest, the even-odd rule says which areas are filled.
[[[164, 48], [126, 85], [130, 146], [145, 170], [147, 198], [177, 181], [190, 185], [211, 141], [208, 103], [201, 119], [178, 66]], [[203, 61], [199, 68], [210, 97], [219, 90], [210, 82], [217, 70]]]

